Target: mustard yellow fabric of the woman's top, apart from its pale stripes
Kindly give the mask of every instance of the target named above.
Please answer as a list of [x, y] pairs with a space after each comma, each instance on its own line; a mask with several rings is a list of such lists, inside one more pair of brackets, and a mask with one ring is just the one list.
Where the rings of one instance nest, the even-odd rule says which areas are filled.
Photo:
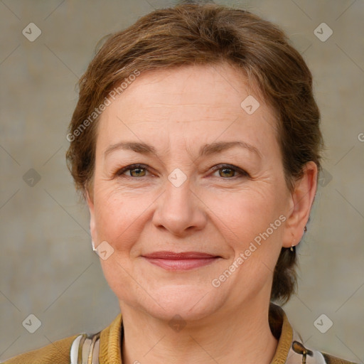
[[[274, 304], [271, 304], [269, 308], [269, 326], [278, 340], [271, 364], [355, 364], [305, 348], [300, 336], [291, 328], [284, 311]], [[123, 331], [121, 328], [122, 314], [119, 314], [107, 328], [100, 332], [99, 364], [122, 364]], [[79, 335], [63, 338], [43, 348], [16, 355], [6, 360], [4, 364], [70, 364], [70, 348], [77, 336]]]

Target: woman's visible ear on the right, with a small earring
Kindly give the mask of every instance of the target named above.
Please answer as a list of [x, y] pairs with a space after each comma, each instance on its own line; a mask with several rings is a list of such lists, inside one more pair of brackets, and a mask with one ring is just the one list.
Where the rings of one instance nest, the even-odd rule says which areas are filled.
[[317, 188], [317, 165], [309, 161], [304, 166], [304, 176], [296, 181], [289, 200], [287, 220], [284, 225], [283, 247], [297, 245], [304, 235]]

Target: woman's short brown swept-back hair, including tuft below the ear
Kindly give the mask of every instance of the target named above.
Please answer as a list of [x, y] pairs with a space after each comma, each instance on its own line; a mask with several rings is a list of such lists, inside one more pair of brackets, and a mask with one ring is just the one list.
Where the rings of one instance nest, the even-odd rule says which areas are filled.
[[[314, 161], [321, 169], [323, 139], [311, 72], [277, 26], [242, 9], [179, 4], [152, 11], [129, 28], [109, 35], [80, 78], [79, 100], [68, 131], [74, 136], [132, 70], [142, 73], [220, 63], [228, 63], [254, 80], [276, 112], [284, 175], [293, 191], [306, 162]], [[75, 186], [84, 198], [95, 168], [97, 120], [72, 138], [66, 155]], [[295, 291], [296, 260], [295, 251], [282, 248], [274, 270], [272, 300], [285, 303]]]

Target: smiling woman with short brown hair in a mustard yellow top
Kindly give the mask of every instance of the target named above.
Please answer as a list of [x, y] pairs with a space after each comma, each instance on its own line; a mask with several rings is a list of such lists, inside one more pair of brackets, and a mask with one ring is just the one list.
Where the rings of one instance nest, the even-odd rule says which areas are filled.
[[67, 159], [121, 313], [6, 363], [349, 363], [284, 311], [323, 141], [284, 33], [215, 4], [110, 36], [80, 80]]

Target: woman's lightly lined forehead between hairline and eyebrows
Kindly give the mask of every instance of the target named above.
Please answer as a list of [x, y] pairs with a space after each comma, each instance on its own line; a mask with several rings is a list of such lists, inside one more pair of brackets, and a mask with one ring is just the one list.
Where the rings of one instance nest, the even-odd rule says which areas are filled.
[[[257, 107], [252, 114], [247, 103]], [[264, 137], [269, 144], [275, 128], [274, 112], [254, 82], [225, 64], [193, 65], [141, 73], [102, 113], [97, 145], [105, 150], [122, 139], [149, 143], [161, 136], [193, 144], [240, 134], [257, 144]]]

